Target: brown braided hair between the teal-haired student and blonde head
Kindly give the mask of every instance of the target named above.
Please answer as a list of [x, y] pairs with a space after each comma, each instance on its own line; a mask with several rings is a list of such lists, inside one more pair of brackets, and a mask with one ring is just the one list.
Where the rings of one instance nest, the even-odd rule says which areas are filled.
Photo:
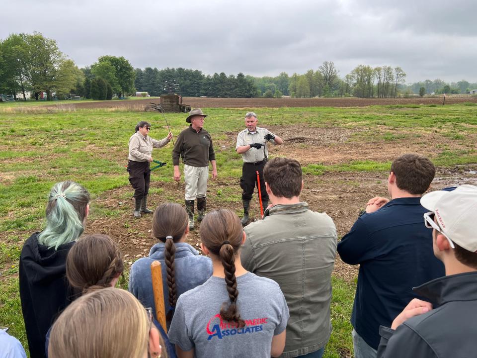
[[70, 285], [81, 293], [110, 286], [113, 278], [123, 270], [118, 244], [103, 234], [80, 238], [66, 260]]

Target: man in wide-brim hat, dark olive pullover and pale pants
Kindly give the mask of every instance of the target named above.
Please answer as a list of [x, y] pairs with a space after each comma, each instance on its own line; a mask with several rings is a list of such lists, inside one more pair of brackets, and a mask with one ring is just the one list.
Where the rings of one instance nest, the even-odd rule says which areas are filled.
[[200, 108], [194, 108], [185, 119], [189, 128], [180, 132], [172, 150], [174, 180], [180, 181], [179, 157], [184, 163], [185, 208], [189, 216], [189, 230], [194, 230], [194, 202], [197, 198], [197, 220], [201, 221], [207, 208], [207, 179], [209, 162], [212, 164], [212, 179], [217, 177], [215, 152], [212, 138], [204, 126], [206, 114]]

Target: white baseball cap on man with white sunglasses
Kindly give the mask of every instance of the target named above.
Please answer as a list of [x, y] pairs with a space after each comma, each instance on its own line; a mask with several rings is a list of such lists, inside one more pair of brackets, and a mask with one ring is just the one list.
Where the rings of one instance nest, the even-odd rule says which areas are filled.
[[446, 237], [467, 251], [477, 251], [477, 186], [432, 191], [421, 197], [421, 205], [434, 212]]

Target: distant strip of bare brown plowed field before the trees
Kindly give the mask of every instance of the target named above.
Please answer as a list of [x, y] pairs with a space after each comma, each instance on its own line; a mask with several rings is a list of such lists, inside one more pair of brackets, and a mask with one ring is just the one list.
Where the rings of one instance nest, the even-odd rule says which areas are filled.
[[[112, 100], [101, 102], [52, 104], [43, 107], [67, 106], [71, 108], [113, 108], [130, 107], [137, 110], [145, 108], [150, 102], [159, 103], [159, 98], [135, 100]], [[257, 108], [257, 107], [365, 107], [369, 105], [393, 104], [442, 104], [442, 97], [422, 98], [204, 98], [183, 97], [183, 103], [193, 107], [203, 108]], [[448, 96], [445, 104], [463, 102], [477, 103], [477, 96]]]

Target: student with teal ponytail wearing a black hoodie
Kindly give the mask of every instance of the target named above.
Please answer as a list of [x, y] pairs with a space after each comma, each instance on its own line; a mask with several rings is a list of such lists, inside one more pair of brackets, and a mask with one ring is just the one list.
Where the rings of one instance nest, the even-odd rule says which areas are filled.
[[74, 181], [56, 183], [46, 207], [46, 227], [24, 243], [20, 300], [31, 358], [45, 357], [45, 336], [74, 292], [66, 279], [68, 252], [84, 230], [89, 193]]

